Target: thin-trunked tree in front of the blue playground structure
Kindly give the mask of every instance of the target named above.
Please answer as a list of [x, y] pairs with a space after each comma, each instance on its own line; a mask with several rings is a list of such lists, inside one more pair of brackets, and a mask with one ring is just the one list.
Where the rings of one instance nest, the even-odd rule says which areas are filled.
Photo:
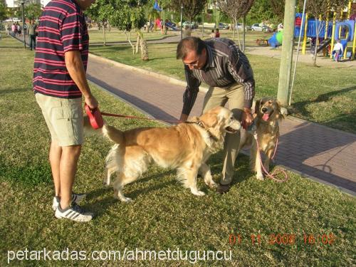
[[[325, 21], [333, 11], [335, 19], [342, 16], [342, 10], [347, 6], [348, 0], [308, 0], [305, 5], [305, 12], [315, 17], [315, 49], [313, 57], [313, 65], [316, 65], [316, 55], [318, 51], [318, 40], [321, 28], [323, 28], [322, 21]], [[300, 0], [300, 6], [303, 6], [303, 1]], [[320, 20], [321, 21], [320, 21]]]

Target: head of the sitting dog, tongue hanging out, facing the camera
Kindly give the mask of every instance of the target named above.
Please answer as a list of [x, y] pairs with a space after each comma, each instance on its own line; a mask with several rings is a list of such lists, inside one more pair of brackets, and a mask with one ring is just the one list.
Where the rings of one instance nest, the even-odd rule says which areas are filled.
[[255, 112], [259, 120], [271, 122], [283, 119], [281, 105], [274, 98], [262, 98], [256, 101]]

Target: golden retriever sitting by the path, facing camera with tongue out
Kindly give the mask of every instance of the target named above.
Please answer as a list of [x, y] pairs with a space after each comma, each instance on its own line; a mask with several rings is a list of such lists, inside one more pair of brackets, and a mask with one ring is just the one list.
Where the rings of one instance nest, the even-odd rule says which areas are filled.
[[[281, 106], [277, 100], [273, 98], [262, 98], [261, 100], [256, 101], [255, 118], [253, 123], [256, 125], [258, 147], [260, 151], [266, 155], [263, 167], [267, 172], [269, 172], [269, 164], [279, 137], [278, 122], [283, 118]], [[263, 180], [263, 171], [259, 159], [260, 155], [258, 155], [260, 152], [257, 149], [253, 132], [241, 130], [240, 148], [248, 145], [251, 145], [251, 169], [253, 172], [256, 172], [257, 179]]]

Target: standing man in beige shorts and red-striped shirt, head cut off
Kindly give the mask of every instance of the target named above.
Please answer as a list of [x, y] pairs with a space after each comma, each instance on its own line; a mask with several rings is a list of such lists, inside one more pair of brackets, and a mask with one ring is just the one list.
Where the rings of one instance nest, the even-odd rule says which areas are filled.
[[52, 0], [38, 25], [33, 91], [51, 132], [49, 159], [58, 219], [90, 221], [93, 214], [78, 206], [83, 194], [73, 194], [73, 182], [83, 143], [82, 95], [90, 108], [98, 101], [90, 92], [85, 71], [89, 36], [83, 16], [93, 0]]

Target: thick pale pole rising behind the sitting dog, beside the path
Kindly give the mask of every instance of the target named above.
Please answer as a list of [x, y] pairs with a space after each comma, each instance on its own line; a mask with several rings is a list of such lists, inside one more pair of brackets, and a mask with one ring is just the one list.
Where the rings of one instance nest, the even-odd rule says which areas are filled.
[[288, 105], [294, 45], [295, 4], [296, 0], [286, 1], [284, 9], [283, 46], [277, 93], [277, 99], [283, 106]]

